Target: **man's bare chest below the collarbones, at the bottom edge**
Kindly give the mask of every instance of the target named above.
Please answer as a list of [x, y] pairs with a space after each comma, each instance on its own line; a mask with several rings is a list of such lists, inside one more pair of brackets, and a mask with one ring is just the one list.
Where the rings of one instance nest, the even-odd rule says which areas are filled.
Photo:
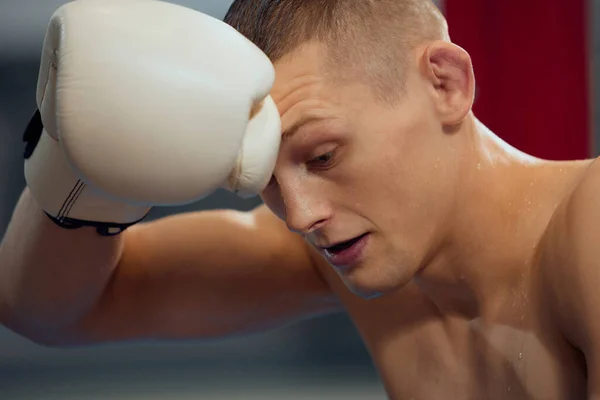
[[540, 324], [398, 319], [356, 319], [391, 399], [586, 398], [581, 356]]

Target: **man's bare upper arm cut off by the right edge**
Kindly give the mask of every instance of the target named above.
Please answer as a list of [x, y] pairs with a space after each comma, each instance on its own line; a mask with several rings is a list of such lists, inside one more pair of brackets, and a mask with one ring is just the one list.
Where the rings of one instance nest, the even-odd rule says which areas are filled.
[[589, 396], [600, 396], [600, 170], [593, 165], [565, 203], [549, 286], [568, 341], [585, 356]]

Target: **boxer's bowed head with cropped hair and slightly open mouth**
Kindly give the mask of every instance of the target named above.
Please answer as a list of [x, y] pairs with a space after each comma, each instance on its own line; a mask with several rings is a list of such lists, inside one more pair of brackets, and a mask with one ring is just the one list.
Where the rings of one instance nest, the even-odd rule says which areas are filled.
[[265, 203], [315, 246], [366, 234], [337, 268], [355, 292], [406, 284], [456, 207], [473, 102], [444, 18], [429, 0], [237, 0], [225, 21], [276, 69], [284, 137]]

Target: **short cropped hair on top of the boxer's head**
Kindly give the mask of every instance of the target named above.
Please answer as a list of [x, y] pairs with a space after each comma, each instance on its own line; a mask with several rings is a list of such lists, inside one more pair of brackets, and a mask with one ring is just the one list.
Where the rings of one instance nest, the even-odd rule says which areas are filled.
[[415, 46], [450, 40], [431, 0], [235, 0], [224, 21], [273, 63], [319, 41], [332, 70], [366, 78], [386, 99], [403, 87], [403, 66]]

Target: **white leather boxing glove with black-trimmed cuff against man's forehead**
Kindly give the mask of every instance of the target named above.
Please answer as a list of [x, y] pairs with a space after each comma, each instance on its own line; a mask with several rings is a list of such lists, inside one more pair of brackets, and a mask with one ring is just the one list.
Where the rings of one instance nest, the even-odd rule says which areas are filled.
[[235, 29], [158, 0], [75, 0], [48, 26], [24, 139], [33, 198], [118, 234], [154, 205], [259, 193], [281, 122], [274, 69]]

